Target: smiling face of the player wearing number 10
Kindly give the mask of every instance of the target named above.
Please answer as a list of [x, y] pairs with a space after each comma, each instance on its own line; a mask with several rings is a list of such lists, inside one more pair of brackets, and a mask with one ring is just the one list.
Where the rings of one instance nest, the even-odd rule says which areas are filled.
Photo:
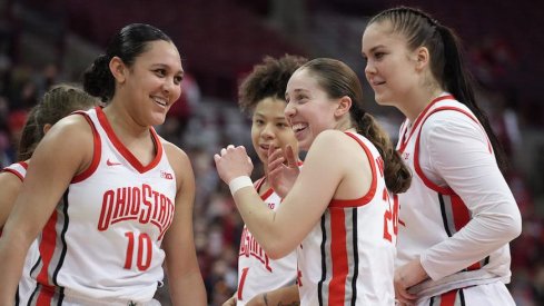
[[141, 126], [161, 125], [181, 95], [184, 69], [178, 50], [165, 40], [148, 42], [148, 49], [126, 68], [118, 89], [135, 120]]

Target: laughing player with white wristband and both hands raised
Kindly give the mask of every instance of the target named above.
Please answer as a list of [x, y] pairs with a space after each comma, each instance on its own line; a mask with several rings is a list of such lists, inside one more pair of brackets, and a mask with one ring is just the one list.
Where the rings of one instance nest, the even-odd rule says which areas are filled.
[[284, 165], [280, 150], [269, 149], [268, 178], [284, 197], [277, 210], [246, 188], [253, 165], [244, 147], [215, 156], [268, 256], [297, 250], [300, 305], [394, 304], [397, 207], [389, 191], [405, 190], [411, 176], [362, 98], [357, 76], [340, 61], [314, 59], [295, 71], [285, 116], [307, 155], [299, 171], [293, 150]]

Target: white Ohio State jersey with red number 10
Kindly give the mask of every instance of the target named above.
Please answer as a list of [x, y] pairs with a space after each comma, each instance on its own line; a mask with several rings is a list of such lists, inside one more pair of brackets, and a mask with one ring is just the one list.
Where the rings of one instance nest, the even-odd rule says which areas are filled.
[[101, 108], [78, 113], [92, 128], [92, 162], [72, 179], [43, 228], [31, 303], [148, 302], [164, 277], [160, 244], [174, 217], [174, 170], [152, 128], [157, 155], [144, 166]]

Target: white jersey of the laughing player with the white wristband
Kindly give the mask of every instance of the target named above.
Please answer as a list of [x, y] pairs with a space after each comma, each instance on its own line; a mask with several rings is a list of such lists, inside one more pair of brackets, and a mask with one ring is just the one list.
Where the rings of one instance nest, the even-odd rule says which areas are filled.
[[362, 198], [332, 200], [297, 248], [300, 305], [392, 306], [398, 206], [387, 191], [378, 150], [358, 134], [346, 135], [366, 152], [372, 186]]

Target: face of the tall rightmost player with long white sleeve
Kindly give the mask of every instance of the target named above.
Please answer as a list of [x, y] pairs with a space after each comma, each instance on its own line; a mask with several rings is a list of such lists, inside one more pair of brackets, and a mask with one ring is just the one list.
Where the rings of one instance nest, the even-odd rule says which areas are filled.
[[392, 31], [389, 21], [374, 22], [366, 28], [362, 53], [367, 60], [366, 79], [379, 105], [398, 106], [418, 87], [414, 55], [406, 39]]

